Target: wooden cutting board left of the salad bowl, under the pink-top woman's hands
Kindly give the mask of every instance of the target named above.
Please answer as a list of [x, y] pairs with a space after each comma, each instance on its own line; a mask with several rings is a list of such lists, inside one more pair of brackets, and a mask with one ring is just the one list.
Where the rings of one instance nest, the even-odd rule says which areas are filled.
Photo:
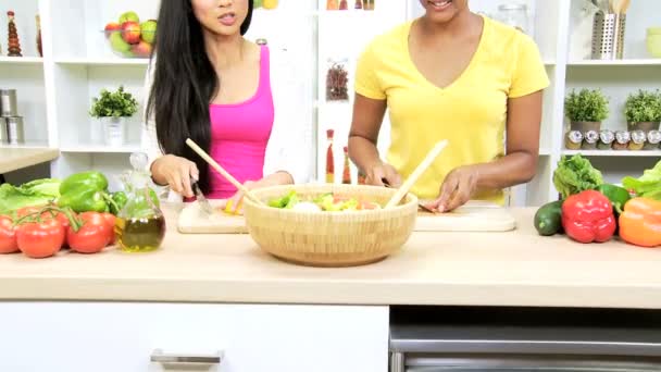
[[[217, 200], [209, 200], [211, 207], [217, 207]], [[197, 201], [188, 203], [179, 212], [177, 230], [182, 234], [247, 234], [246, 220], [242, 215], [229, 215], [220, 209], [213, 215], [204, 213]]]

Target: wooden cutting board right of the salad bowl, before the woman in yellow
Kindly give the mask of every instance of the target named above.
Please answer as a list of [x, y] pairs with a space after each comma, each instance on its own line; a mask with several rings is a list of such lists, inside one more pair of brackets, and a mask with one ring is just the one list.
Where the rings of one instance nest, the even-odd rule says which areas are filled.
[[469, 201], [449, 213], [421, 211], [416, 232], [507, 232], [516, 228], [516, 220], [506, 209], [485, 201]]

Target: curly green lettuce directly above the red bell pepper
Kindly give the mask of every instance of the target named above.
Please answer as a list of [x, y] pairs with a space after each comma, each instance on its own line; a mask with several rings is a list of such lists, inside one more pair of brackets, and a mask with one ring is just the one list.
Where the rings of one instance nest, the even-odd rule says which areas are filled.
[[563, 199], [570, 195], [595, 189], [601, 184], [603, 184], [601, 172], [581, 154], [572, 158], [563, 156], [553, 172], [553, 185]]

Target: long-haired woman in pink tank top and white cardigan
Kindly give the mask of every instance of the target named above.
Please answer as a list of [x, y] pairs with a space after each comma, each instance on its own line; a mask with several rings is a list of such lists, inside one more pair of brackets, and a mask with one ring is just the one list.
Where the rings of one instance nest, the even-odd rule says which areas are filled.
[[237, 206], [242, 197], [186, 138], [248, 188], [304, 182], [288, 164], [287, 148], [298, 144], [274, 127], [270, 50], [244, 38], [252, 9], [252, 0], [161, 3], [144, 141], [154, 182], [185, 198], [194, 196], [195, 181], [209, 198], [234, 198]]

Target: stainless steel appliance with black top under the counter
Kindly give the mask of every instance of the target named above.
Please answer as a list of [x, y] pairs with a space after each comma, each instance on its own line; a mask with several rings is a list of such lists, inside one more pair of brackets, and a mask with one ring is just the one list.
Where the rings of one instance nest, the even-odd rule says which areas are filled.
[[661, 371], [656, 311], [464, 308], [424, 309], [404, 318], [396, 312], [391, 372]]

